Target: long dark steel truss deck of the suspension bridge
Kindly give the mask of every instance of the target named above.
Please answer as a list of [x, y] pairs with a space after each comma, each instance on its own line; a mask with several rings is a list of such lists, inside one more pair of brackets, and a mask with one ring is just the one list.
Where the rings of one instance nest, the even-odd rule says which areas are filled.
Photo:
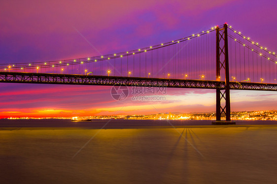
[[[151, 86], [168, 88], [223, 89], [224, 81], [188, 80], [100, 75], [0, 72], [1, 83], [68, 84], [99, 86]], [[277, 84], [230, 82], [230, 90], [277, 91]]]

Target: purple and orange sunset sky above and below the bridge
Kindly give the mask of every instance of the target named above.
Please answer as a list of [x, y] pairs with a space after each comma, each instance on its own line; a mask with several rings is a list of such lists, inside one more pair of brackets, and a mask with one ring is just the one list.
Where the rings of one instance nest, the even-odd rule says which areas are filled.
[[[276, 0], [2, 0], [0, 63], [99, 56], [91, 44], [103, 54], [116, 53], [225, 22], [277, 51], [276, 7]], [[165, 101], [129, 97], [118, 102], [110, 95], [111, 87], [0, 84], [0, 88], [0, 117], [215, 111], [214, 90], [169, 89]], [[276, 110], [276, 97], [276, 92], [232, 91], [231, 110]]]

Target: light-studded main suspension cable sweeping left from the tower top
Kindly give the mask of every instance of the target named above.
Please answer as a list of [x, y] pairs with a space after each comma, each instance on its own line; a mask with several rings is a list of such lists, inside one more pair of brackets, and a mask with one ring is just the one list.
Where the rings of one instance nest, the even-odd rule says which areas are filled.
[[[177, 44], [183, 41], [188, 41], [192, 38], [196, 38], [196, 37], [200, 37], [204, 34], [208, 34], [209, 32], [215, 31], [216, 28], [220, 28], [222, 26], [214, 26], [211, 29], [207, 30], [207, 31], [202, 31], [196, 34], [192, 34], [190, 36], [184, 37], [184, 38], [180, 38], [177, 40], [173, 40], [170, 42], [166, 42], [166, 43], [161, 43], [158, 45], [154, 45], [154, 46], [149, 46], [149, 47], [145, 47], [142, 49], [137, 49], [137, 50], [131, 50], [131, 51], [126, 51], [126, 52], [119, 52], [119, 53], [115, 53], [115, 54], [108, 54], [108, 55], [103, 55], [103, 56], [97, 56], [97, 57], [88, 57], [88, 58], [80, 58], [80, 59], [75, 59], [75, 60], [63, 60], [63, 61], [48, 61], [48, 62], [32, 62], [32, 63], [15, 63], [15, 64], [8, 64], [8, 66], [4, 67], [1, 66], [0, 69], [4, 69], [4, 70], [9, 70], [12, 68], [15, 69], [39, 69], [39, 68], [51, 68], [51, 67], [60, 67], [60, 66], [69, 66], [69, 65], [75, 65], [75, 64], [83, 64], [83, 63], [88, 63], [88, 62], [97, 62], [97, 61], [108, 61], [111, 59], [116, 59], [116, 58], [123, 58], [123, 57], [127, 57], [127, 56], [132, 56], [132, 55], [137, 55], [137, 54], [141, 54], [147, 51], [152, 51], [152, 50], [157, 50], [163, 47], [167, 47], [173, 44]], [[69, 61], [69, 62], [67, 62]], [[0, 65], [7, 65], [7, 64], [0, 64]]]

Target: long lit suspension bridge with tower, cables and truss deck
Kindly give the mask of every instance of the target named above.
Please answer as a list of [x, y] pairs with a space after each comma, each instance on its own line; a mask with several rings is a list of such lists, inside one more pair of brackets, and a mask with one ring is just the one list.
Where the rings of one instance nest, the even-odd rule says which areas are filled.
[[230, 90], [277, 91], [277, 54], [227, 24], [120, 53], [0, 64], [0, 82], [216, 90], [216, 122], [231, 123]]

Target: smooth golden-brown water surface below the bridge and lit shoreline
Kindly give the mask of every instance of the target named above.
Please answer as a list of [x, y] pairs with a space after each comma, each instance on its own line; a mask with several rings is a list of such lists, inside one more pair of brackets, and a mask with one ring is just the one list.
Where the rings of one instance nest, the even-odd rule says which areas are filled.
[[177, 128], [129, 122], [123, 129], [117, 128], [122, 121], [107, 129], [65, 122], [33, 121], [42, 125], [34, 127], [17, 121], [21, 126], [8, 127], [1, 121], [0, 183], [277, 183], [272, 122], [183, 122]]

